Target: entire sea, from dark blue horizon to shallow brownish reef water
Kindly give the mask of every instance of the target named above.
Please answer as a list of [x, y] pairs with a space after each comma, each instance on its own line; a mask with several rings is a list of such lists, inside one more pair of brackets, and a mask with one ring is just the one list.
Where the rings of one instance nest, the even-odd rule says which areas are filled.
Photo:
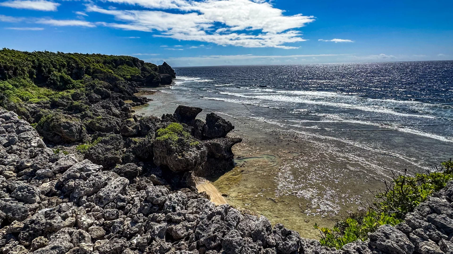
[[313, 222], [332, 226], [356, 209], [380, 180], [453, 157], [453, 61], [174, 69], [173, 84], [137, 112], [185, 104], [233, 122], [245, 164], [213, 184], [306, 236], [316, 237]]

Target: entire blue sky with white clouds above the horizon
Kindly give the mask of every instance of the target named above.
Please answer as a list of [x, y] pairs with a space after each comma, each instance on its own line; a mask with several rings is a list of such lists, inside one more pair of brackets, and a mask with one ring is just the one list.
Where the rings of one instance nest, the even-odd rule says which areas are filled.
[[453, 59], [453, 1], [0, 0], [0, 47], [171, 66]]

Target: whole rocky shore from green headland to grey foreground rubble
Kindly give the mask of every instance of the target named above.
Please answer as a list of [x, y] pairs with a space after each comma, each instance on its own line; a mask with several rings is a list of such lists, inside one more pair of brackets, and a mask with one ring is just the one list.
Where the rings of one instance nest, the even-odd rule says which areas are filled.
[[196, 184], [235, 166], [231, 122], [184, 105], [133, 114], [138, 87], [172, 78], [130, 56], [0, 51], [3, 254], [453, 253], [452, 182], [339, 250], [217, 206]]

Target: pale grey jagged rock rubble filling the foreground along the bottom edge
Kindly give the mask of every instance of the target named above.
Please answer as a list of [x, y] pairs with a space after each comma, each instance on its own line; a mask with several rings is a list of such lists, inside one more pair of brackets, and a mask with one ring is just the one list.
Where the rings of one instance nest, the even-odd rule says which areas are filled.
[[[0, 248], [5, 254], [453, 252], [453, 181], [395, 227], [383, 225], [369, 240], [329, 249], [281, 224], [272, 227], [264, 216], [216, 206], [193, 188], [171, 188], [156, 169], [134, 163], [106, 169], [54, 152], [28, 122], [1, 108], [0, 123]], [[113, 133], [100, 137], [105, 140], [96, 145], [134, 145]], [[202, 142], [208, 157], [226, 160], [237, 141]]]

